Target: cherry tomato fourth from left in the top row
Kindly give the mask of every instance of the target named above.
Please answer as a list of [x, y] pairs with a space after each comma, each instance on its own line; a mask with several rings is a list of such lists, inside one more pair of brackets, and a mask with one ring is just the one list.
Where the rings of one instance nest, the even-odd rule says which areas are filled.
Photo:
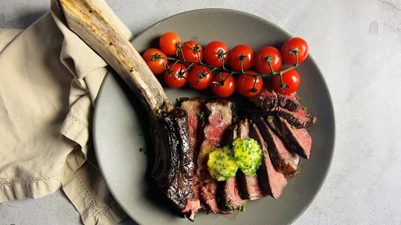
[[235, 71], [246, 71], [253, 66], [253, 50], [247, 45], [233, 47], [228, 55], [228, 64]]

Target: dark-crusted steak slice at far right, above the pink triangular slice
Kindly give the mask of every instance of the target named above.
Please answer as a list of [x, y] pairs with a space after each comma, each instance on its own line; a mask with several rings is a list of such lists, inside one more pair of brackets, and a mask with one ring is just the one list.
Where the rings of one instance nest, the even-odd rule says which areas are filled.
[[272, 111], [275, 111], [279, 117], [286, 119], [289, 124], [294, 125], [296, 128], [306, 128], [316, 123], [316, 117], [311, 117], [311, 113], [302, 108], [298, 111], [289, 111], [288, 109], [277, 107]]

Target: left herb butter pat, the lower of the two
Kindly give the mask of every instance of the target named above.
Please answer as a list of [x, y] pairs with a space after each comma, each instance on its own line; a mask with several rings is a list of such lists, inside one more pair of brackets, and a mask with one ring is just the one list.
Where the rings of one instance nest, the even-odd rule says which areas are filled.
[[209, 153], [209, 173], [217, 181], [228, 180], [235, 176], [238, 166], [234, 161], [232, 150], [228, 146], [215, 148]]

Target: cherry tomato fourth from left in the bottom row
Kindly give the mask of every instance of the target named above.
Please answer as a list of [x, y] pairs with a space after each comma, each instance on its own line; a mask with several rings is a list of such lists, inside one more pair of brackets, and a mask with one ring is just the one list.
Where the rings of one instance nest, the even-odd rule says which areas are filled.
[[[224, 80], [223, 83], [222, 80]], [[218, 97], [229, 97], [235, 91], [235, 79], [227, 72], [220, 72], [213, 77], [211, 89]]]

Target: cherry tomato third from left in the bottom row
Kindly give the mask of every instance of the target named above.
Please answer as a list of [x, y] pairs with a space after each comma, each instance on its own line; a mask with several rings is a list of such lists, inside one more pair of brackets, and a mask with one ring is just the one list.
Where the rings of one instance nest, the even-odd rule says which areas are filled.
[[213, 74], [206, 66], [195, 65], [188, 72], [188, 82], [196, 90], [204, 90], [212, 83]]

